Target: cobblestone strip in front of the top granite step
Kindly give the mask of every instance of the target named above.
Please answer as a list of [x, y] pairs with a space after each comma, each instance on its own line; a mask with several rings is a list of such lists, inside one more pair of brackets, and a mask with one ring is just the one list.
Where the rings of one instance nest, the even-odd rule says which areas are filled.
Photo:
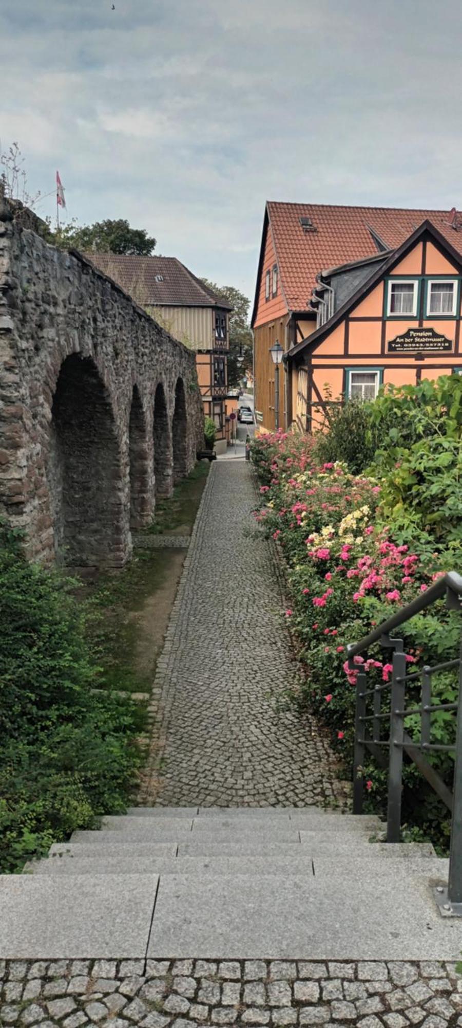
[[11, 960], [0, 994], [17, 1028], [462, 1025], [462, 980], [437, 961]]

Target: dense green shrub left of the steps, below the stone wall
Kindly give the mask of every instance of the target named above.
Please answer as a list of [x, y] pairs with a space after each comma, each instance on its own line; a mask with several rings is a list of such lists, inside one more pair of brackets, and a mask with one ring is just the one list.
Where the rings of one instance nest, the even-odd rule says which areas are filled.
[[21, 870], [124, 809], [140, 765], [138, 710], [95, 692], [82, 612], [0, 523], [0, 870]]

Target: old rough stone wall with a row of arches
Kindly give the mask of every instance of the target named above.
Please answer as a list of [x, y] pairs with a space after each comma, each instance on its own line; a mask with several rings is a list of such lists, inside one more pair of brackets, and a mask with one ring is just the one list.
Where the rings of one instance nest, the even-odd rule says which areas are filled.
[[0, 197], [0, 514], [28, 555], [121, 566], [202, 446], [195, 355]]

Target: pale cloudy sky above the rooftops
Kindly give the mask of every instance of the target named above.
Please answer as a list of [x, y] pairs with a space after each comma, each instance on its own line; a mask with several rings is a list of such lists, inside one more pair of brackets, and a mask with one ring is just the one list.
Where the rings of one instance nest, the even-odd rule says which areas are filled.
[[253, 297], [267, 199], [462, 209], [460, 0], [112, 2], [0, 0], [0, 145], [69, 219]]

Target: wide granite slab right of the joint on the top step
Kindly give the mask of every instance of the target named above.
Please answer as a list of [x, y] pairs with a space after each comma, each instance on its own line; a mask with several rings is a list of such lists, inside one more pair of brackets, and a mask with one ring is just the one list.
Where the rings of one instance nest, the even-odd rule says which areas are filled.
[[[69, 879], [78, 881], [79, 879]], [[164, 875], [148, 956], [204, 959], [454, 960], [458, 919], [440, 916], [420, 871]], [[187, 912], [187, 916], [185, 916]]]

